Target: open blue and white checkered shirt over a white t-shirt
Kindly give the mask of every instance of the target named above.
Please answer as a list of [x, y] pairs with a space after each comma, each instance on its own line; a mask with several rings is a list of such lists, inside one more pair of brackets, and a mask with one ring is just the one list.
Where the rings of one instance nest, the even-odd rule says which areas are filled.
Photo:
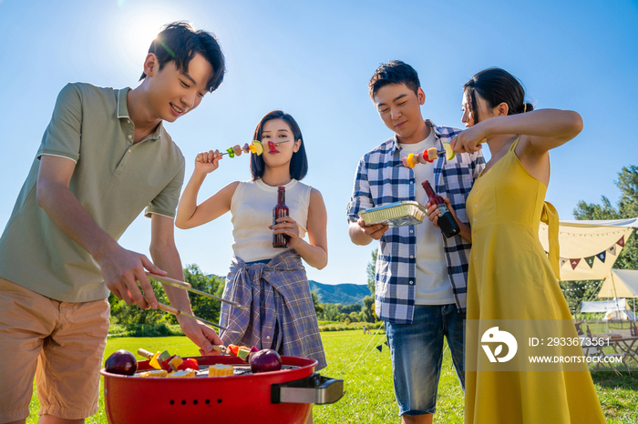
[[[443, 142], [451, 141], [461, 130], [435, 126], [435, 146], [443, 150]], [[380, 207], [403, 200], [416, 200], [414, 171], [401, 165], [406, 156], [395, 138], [368, 152], [356, 168], [355, 188], [347, 207], [350, 221], [356, 221], [359, 212], [370, 207]], [[457, 217], [468, 223], [465, 201], [474, 179], [485, 167], [483, 155], [457, 154], [452, 160], [438, 156], [433, 164], [434, 189], [441, 197], [448, 197]], [[430, 165], [419, 165], [429, 167]], [[421, 225], [428, 225], [424, 223]], [[443, 235], [441, 234], [441, 237]], [[466, 308], [468, 257], [471, 244], [460, 236], [443, 237], [448, 275], [452, 284], [457, 308]], [[415, 282], [417, 275], [417, 237], [414, 226], [389, 228], [379, 240], [376, 256], [376, 316], [396, 324], [411, 324], [415, 306]]]

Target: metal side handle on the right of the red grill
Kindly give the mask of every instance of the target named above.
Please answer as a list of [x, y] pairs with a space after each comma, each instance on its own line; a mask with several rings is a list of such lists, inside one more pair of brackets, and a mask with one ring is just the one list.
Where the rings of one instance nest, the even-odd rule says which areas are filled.
[[344, 396], [344, 380], [331, 379], [315, 372], [305, 379], [271, 386], [272, 403], [334, 403]]

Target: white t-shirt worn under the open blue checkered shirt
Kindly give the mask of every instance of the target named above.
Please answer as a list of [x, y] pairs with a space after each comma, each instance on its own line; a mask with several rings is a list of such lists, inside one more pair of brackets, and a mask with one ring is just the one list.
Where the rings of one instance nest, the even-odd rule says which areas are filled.
[[[402, 144], [406, 156], [410, 153], [417, 155], [423, 153], [435, 144], [434, 130], [430, 128], [427, 138], [416, 144]], [[415, 195], [417, 202], [425, 206], [427, 204], [426, 190], [421, 183], [428, 180], [432, 187], [434, 184], [434, 164], [417, 164], [412, 170], [415, 173]], [[422, 224], [415, 226], [417, 236], [417, 287], [415, 304], [417, 305], [448, 305], [454, 303], [452, 283], [448, 276], [448, 265], [445, 251], [443, 250], [443, 236], [441, 230], [434, 227], [427, 219]]]

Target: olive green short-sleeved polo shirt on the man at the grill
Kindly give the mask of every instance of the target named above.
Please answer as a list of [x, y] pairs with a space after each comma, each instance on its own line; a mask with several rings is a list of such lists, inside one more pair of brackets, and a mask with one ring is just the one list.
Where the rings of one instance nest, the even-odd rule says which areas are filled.
[[147, 217], [175, 217], [184, 156], [162, 124], [133, 145], [128, 92], [81, 83], [62, 89], [0, 238], [0, 277], [65, 302], [108, 297], [98, 263], [37, 206], [40, 156], [76, 162], [71, 192], [116, 240], [145, 207]]

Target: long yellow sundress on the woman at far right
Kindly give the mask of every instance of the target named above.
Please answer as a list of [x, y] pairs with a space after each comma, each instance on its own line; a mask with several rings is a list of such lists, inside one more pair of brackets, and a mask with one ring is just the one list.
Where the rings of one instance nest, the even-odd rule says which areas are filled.
[[[519, 139], [481, 173], [467, 200], [472, 233], [467, 319], [571, 320], [556, 278], [558, 214], [544, 201], [547, 187], [520, 164], [514, 152]], [[540, 245], [541, 217], [550, 225], [550, 258]], [[578, 338], [576, 328], [567, 336]], [[483, 355], [480, 341], [480, 334], [467, 334], [467, 363], [469, 355]], [[566, 352], [582, 356], [580, 346]], [[581, 370], [466, 367], [466, 424], [606, 422], [587, 365], [576, 367]]]

